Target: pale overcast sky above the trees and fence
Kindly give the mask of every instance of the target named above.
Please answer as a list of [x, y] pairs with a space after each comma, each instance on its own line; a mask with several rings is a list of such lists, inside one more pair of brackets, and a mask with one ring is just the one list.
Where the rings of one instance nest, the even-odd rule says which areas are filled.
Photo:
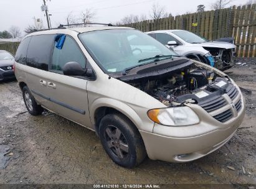
[[[52, 14], [50, 21], [52, 27], [59, 24], [66, 24], [65, 18], [72, 12], [79, 17], [82, 11], [91, 9], [95, 12], [93, 22], [115, 23], [123, 17], [134, 14], [145, 14], [149, 17], [149, 12], [153, 4], [158, 3], [164, 6], [166, 12], [173, 16], [184, 14], [185, 12], [196, 12], [197, 5], [204, 4], [206, 11], [214, 0], [45, 0]], [[240, 6], [248, 0], [232, 0], [230, 5]], [[47, 27], [45, 12], [42, 12], [43, 0], [0, 0], [0, 31], [9, 30], [11, 25], [17, 25], [24, 35], [23, 30], [28, 25], [34, 25], [34, 18], [42, 19]]]

